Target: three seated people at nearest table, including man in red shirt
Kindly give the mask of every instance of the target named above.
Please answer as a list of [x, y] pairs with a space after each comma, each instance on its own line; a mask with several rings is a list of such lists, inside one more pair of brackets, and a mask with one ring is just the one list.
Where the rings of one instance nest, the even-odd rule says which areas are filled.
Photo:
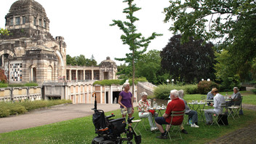
[[[138, 102], [138, 111], [140, 118], [147, 118], [149, 124], [151, 126], [151, 131], [159, 129], [162, 133], [159, 138], [167, 138], [167, 129], [163, 129], [162, 124], [170, 124], [172, 117], [167, 114], [171, 113], [171, 111], [184, 111], [185, 114], [188, 115], [189, 118], [192, 119], [191, 127], [199, 127], [198, 126], [198, 115], [196, 111], [191, 110], [187, 102], [183, 99], [184, 91], [176, 89], [170, 92], [170, 99], [167, 103], [167, 110], [164, 115], [161, 117], [157, 117], [157, 113], [155, 111], [148, 110], [150, 103], [147, 100], [148, 94], [146, 92], [141, 93], [141, 100]], [[154, 116], [153, 116], [154, 115]], [[153, 123], [153, 117], [155, 117], [155, 123]], [[180, 125], [183, 122], [183, 116], [177, 116], [172, 120], [172, 124]], [[184, 129], [183, 125], [180, 126], [181, 132], [188, 134], [188, 132]]]

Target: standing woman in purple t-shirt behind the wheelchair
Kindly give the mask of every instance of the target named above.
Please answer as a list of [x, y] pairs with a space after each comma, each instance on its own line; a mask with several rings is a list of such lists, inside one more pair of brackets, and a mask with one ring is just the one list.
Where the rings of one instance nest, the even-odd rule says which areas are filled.
[[119, 93], [119, 105], [121, 108], [121, 114], [123, 117], [125, 117], [128, 113], [129, 118], [132, 117], [132, 114], [134, 113], [133, 108], [133, 97], [132, 93], [129, 92], [129, 83], [126, 82], [123, 84], [124, 90]]

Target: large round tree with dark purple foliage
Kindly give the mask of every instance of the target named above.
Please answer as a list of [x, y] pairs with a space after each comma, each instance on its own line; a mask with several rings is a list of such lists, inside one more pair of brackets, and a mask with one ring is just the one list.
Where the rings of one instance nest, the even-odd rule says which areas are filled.
[[181, 43], [181, 36], [175, 35], [161, 51], [161, 68], [168, 71], [175, 81], [198, 82], [202, 78], [215, 79], [213, 44], [202, 44], [204, 40]]

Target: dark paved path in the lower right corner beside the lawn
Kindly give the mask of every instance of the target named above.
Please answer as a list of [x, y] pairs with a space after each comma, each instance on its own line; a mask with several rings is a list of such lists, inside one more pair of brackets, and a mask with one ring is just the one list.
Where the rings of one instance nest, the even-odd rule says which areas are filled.
[[[243, 104], [243, 108], [256, 111], [255, 105]], [[223, 135], [209, 142], [210, 144], [226, 144], [226, 143], [244, 143], [244, 144], [255, 144], [256, 143], [256, 123], [250, 124], [248, 127], [237, 129], [228, 135]]]

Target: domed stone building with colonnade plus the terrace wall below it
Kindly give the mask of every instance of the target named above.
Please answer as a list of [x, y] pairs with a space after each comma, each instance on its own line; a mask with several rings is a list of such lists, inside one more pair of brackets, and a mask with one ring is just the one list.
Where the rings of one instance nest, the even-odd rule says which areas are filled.
[[[5, 19], [9, 36], [0, 36], [0, 68], [9, 83], [35, 81], [40, 86], [1, 88], [0, 101], [60, 98], [94, 103], [92, 94], [96, 93], [97, 103], [117, 103], [121, 85], [93, 85], [97, 80], [117, 79], [116, 63], [107, 57], [99, 66], [66, 65], [64, 38], [49, 33], [49, 19], [41, 4], [17, 0]], [[137, 102], [137, 87], [133, 91]]]

